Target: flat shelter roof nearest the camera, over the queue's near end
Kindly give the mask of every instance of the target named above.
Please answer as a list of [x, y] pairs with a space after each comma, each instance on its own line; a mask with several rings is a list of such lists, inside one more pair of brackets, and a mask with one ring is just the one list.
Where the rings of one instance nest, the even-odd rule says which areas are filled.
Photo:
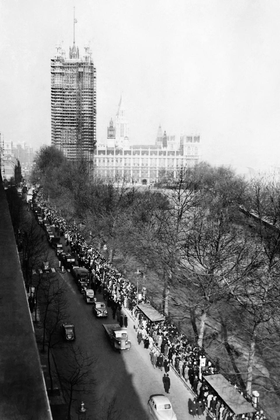
[[252, 405], [228, 382], [221, 373], [203, 377], [234, 414], [254, 413]]

